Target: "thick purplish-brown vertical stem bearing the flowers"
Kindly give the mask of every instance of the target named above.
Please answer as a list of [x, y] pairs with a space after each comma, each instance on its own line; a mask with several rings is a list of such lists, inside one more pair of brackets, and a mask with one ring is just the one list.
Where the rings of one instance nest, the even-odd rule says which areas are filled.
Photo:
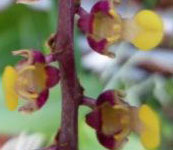
[[78, 150], [78, 108], [83, 89], [76, 75], [74, 58], [74, 0], [59, 0], [58, 30], [55, 36], [56, 55], [61, 72], [62, 114], [57, 150]]

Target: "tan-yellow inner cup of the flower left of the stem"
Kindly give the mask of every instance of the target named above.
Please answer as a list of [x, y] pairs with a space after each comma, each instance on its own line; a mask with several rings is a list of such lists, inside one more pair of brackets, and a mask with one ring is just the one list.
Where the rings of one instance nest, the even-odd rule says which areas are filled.
[[24, 99], [36, 100], [40, 92], [46, 89], [46, 81], [44, 64], [26, 66], [18, 72], [16, 91]]

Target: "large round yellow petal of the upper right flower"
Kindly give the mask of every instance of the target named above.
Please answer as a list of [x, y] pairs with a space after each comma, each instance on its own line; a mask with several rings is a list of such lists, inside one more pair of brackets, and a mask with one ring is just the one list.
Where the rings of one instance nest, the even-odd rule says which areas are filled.
[[134, 23], [138, 31], [132, 43], [137, 48], [151, 50], [161, 43], [164, 34], [163, 21], [155, 12], [140, 11], [134, 17]]

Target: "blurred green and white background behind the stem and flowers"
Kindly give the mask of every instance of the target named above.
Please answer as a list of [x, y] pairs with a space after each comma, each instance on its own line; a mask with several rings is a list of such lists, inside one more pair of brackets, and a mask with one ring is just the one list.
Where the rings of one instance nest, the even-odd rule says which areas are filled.
[[[83, 0], [82, 6], [89, 11], [96, 1]], [[45, 43], [56, 30], [56, 6], [56, 0], [41, 0], [27, 6], [16, 5], [14, 0], [0, 0], [0, 76], [6, 65], [15, 65], [20, 59], [11, 55], [13, 50], [34, 48], [49, 53]], [[157, 11], [164, 20], [164, 40], [150, 52], [120, 43], [112, 47], [116, 59], [110, 59], [93, 52], [85, 36], [75, 28], [76, 66], [85, 94], [96, 98], [103, 90], [122, 89], [131, 105], [150, 105], [162, 121], [162, 144], [158, 150], [173, 150], [173, 1], [122, 0], [116, 9], [124, 18], [141, 9]], [[0, 149], [4, 144], [7, 148], [2, 150], [14, 150], [14, 144], [20, 144], [18, 150], [51, 144], [60, 123], [59, 86], [51, 90], [44, 108], [32, 115], [8, 111], [0, 88]], [[80, 150], [104, 150], [94, 130], [85, 124], [88, 112], [89, 108], [80, 108]], [[138, 136], [132, 134], [123, 150], [144, 148]]]

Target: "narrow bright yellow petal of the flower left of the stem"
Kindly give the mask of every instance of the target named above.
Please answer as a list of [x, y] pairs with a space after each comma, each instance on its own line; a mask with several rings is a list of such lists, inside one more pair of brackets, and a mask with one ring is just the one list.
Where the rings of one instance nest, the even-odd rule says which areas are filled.
[[2, 84], [5, 93], [6, 105], [9, 110], [13, 111], [18, 105], [18, 95], [15, 92], [15, 82], [17, 80], [17, 72], [15, 68], [7, 66], [2, 76]]

